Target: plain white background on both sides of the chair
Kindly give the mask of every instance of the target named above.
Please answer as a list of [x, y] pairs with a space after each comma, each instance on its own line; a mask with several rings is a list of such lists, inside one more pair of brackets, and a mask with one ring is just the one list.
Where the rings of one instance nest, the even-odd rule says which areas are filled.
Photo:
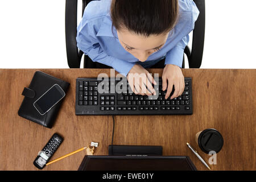
[[[256, 68], [256, 1], [205, 1], [201, 68]], [[0, 1], [0, 23], [0, 68], [68, 68], [64, 0]]]

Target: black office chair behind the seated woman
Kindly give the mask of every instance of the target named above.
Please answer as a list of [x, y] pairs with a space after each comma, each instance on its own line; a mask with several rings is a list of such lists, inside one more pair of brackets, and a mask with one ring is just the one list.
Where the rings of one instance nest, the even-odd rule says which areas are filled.
[[[82, 14], [84, 14], [85, 6], [90, 1], [96, 0], [82, 0]], [[192, 49], [185, 47], [184, 53], [188, 57], [189, 68], [200, 68], [202, 63], [204, 51], [204, 34], [205, 34], [205, 0], [193, 0], [200, 11], [199, 18], [195, 23], [193, 30]], [[66, 49], [69, 68], [80, 68], [81, 58], [84, 54], [77, 48], [77, 0], [66, 0], [65, 7], [65, 35], [66, 35]], [[182, 68], [185, 68], [183, 59]], [[108, 65], [93, 62], [89, 56], [84, 56], [84, 68], [111, 68]], [[152, 68], [164, 68], [164, 60], [159, 61], [158, 64]]]

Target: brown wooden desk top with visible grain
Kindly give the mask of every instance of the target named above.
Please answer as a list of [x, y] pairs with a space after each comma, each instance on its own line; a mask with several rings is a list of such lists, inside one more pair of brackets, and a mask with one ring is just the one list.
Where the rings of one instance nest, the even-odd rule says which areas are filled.
[[[39, 69], [71, 83], [52, 129], [18, 116], [24, 86], [38, 69], [0, 69], [0, 170], [37, 170], [32, 164], [53, 133], [64, 142], [51, 160], [99, 142], [95, 155], [108, 155], [112, 116], [75, 115], [77, 77], [97, 77], [110, 69]], [[199, 170], [207, 170], [189, 150], [189, 142], [208, 162], [210, 156], [196, 145], [198, 131], [214, 128], [224, 137], [214, 170], [256, 170], [256, 70], [183, 69], [192, 77], [193, 115], [115, 116], [114, 144], [160, 145], [163, 155], [188, 155]], [[162, 74], [162, 69], [150, 69]], [[77, 170], [85, 151], [53, 163], [43, 170]]]

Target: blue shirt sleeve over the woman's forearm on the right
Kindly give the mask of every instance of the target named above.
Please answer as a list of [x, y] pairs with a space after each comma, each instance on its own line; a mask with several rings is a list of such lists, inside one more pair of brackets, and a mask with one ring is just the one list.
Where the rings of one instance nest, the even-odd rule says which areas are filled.
[[176, 44], [174, 48], [166, 53], [166, 61], [164, 64], [174, 64], [178, 67], [182, 67], [184, 49], [188, 45], [189, 35], [185, 36]]

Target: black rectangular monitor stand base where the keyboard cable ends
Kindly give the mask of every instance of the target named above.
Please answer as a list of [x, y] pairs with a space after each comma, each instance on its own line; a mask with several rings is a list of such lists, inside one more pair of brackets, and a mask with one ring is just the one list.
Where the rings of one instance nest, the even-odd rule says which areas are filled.
[[109, 145], [109, 155], [152, 156], [162, 155], [162, 146], [116, 146]]

